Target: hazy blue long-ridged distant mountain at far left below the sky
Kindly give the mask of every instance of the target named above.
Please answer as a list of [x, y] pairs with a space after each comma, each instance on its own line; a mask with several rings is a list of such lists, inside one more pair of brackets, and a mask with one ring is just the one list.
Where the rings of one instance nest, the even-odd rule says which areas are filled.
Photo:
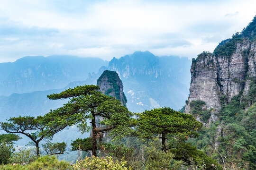
[[88, 73], [107, 66], [99, 58], [75, 56], [23, 57], [0, 63], [0, 95], [63, 88], [73, 81], [86, 80]]

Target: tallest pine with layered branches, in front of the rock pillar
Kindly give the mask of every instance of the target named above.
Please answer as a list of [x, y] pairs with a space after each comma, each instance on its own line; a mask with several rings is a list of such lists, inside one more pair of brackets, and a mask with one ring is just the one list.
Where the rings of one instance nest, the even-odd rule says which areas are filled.
[[[48, 127], [67, 127], [78, 125], [82, 132], [91, 131], [91, 151], [97, 156], [97, 143], [101, 141], [102, 133], [110, 131], [110, 135], [120, 139], [130, 130], [129, 121], [132, 113], [121, 102], [97, 91], [96, 85], [77, 86], [58, 94], [47, 97], [51, 100], [70, 98], [63, 107], [53, 110], [46, 116], [51, 119]], [[103, 121], [96, 122], [97, 118]], [[87, 122], [90, 120], [90, 124]]]

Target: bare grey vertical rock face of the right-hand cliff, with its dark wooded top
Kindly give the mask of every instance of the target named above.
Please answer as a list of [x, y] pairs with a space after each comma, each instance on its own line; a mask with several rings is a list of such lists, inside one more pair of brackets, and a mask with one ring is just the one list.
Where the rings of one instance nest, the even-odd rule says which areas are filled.
[[[202, 52], [192, 59], [190, 96], [185, 113], [192, 113], [193, 101], [203, 101], [202, 108], [213, 110], [204, 123], [216, 121], [218, 110], [241, 94], [241, 100], [250, 89], [256, 76], [256, 19], [242, 33], [220, 42], [213, 53]], [[249, 106], [252, 103], [248, 103]], [[196, 115], [200, 117], [199, 115]]]

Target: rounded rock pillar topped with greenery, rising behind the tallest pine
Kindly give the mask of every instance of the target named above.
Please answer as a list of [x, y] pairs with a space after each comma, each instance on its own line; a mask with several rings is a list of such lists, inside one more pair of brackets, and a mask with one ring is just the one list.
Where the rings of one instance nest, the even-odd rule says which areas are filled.
[[105, 70], [97, 80], [100, 91], [106, 95], [114, 96], [126, 106], [127, 99], [123, 92], [123, 84], [115, 71]]

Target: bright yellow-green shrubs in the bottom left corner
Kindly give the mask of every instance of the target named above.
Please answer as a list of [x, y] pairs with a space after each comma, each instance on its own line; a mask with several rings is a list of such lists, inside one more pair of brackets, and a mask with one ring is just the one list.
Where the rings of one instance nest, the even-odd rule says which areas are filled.
[[42, 156], [29, 164], [3, 165], [1, 170], [72, 170], [71, 165], [65, 161], [58, 161], [55, 156]]

